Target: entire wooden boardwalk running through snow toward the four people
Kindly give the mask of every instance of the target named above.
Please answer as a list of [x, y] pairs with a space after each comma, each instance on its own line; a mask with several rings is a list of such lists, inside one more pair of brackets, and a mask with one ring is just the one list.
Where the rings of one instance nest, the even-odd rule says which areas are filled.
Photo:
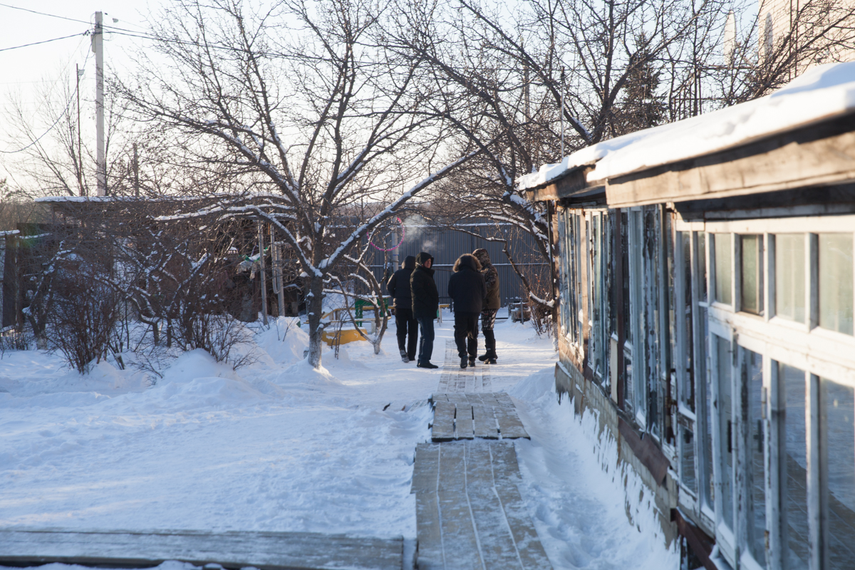
[[419, 570], [551, 568], [508, 441], [528, 433], [510, 397], [490, 385], [490, 366], [461, 368], [449, 341], [431, 397], [432, 443], [416, 447], [413, 467]]

